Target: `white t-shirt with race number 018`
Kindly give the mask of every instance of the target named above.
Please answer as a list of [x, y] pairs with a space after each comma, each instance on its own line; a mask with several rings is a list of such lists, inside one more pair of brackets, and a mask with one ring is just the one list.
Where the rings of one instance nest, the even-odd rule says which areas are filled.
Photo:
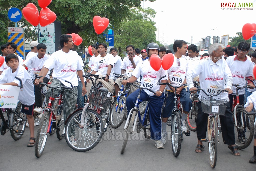
[[[187, 60], [185, 55], [179, 58], [180, 66], [178, 65], [178, 58], [174, 56], [173, 65], [167, 70], [168, 77], [172, 86], [179, 86], [183, 84], [186, 73], [189, 71], [190, 61]], [[170, 90], [169, 86], [166, 86], [166, 90]]]

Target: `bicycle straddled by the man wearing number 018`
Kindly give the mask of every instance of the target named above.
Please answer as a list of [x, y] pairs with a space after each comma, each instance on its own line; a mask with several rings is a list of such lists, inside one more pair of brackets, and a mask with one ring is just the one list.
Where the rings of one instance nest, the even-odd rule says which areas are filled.
[[190, 135], [190, 131], [187, 132], [182, 132], [181, 131], [181, 116], [183, 113], [183, 109], [182, 109], [182, 104], [180, 102], [180, 95], [177, 94], [177, 88], [180, 88], [182, 86], [186, 86], [187, 84], [181, 84], [179, 86], [172, 86], [172, 84], [170, 83], [161, 83], [160, 80], [162, 78], [161, 77], [158, 80], [159, 85], [168, 85], [174, 88], [174, 108], [172, 109], [172, 116], [171, 119], [167, 120], [167, 125], [171, 126], [171, 135], [172, 135], [172, 150], [173, 150], [173, 155], [175, 157], [178, 157], [180, 150], [181, 150], [181, 142], [183, 140], [183, 133], [186, 136]]

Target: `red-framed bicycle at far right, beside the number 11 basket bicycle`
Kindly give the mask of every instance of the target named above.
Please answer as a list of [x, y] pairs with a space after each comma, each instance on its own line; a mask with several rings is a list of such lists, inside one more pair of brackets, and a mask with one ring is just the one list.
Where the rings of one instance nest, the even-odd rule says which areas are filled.
[[[248, 86], [239, 86], [239, 84], [232, 84], [232, 86], [237, 88], [236, 99], [233, 100], [231, 110], [233, 112], [236, 146], [238, 149], [245, 149], [251, 144], [253, 139], [254, 132], [250, 130], [254, 130], [254, 118], [252, 115], [254, 115], [255, 112], [247, 112], [245, 107], [240, 105], [238, 90], [245, 87], [247, 88]], [[247, 130], [246, 127], [250, 127], [250, 130]], [[242, 142], [242, 138], [246, 136], [248, 137], [247, 141]]]

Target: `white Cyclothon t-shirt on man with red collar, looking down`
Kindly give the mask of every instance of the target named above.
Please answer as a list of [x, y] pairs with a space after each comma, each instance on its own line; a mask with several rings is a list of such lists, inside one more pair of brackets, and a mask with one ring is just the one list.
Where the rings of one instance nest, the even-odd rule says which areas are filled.
[[[236, 59], [234, 61], [234, 59]], [[246, 77], [252, 76], [252, 61], [246, 57], [246, 61], [239, 61], [236, 55], [229, 56], [226, 60], [229, 69], [231, 70], [233, 83], [239, 84], [240, 86], [246, 85]], [[233, 94], [236, 94], [236, 87], [232, 86]], [[239, 89], [238, 94], [244, 94], [245, 89]]]

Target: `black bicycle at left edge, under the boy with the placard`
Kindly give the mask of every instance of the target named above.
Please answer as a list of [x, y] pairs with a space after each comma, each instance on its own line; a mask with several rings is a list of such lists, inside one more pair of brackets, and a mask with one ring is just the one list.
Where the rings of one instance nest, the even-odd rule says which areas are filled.
[[[15, 77], [20, 81], [20, 87], [22, 86], [21, 79]], [[8, 108], [2, 108], [0, 109], [0, 117], [2, 119], [1, 127], [0, 127], [0, 133], [1, 135], [5, 135], [7, 132], [6, 130], [10, 131], [10, 134], [14, 140], [18, 140], [22, 137], [24, 134], [25, 128], [26, 128], [26, 122], [27, 117], [23, 112], [21, 111], [21, 102], [17, 102], [16, 108], [8, 109]], [[4, 112], [6, 112], [7, 120], [5, 120]]]

